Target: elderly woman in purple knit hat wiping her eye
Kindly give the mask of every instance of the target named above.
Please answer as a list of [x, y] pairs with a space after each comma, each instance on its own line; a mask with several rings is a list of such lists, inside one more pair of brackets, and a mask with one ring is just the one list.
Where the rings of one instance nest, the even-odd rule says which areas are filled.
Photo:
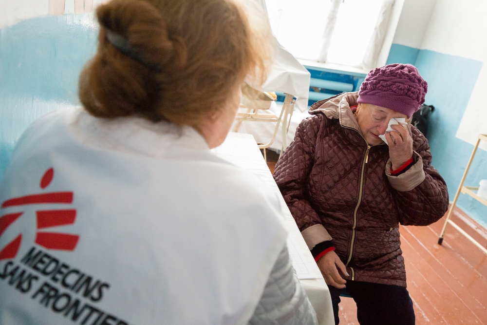
[[[274, 177], [332, 295], [356, 301], [360, 324], [414, 324], [399, 224], [426, 226], [448, 209], [428, 140], [409, 123], [427, 83], [409, 64], [371, 71], [357, 93], [311, 106]], [[387, 144], [379, 137], [385, 134]]]

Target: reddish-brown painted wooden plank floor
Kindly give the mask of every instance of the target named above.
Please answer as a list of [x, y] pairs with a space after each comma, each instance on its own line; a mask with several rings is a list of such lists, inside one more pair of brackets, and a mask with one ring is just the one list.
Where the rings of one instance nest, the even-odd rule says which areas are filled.
[[[277, 156], [267, 158], [273, 171]], [[486, 229], [457, 209], [452, 220], [487, 247]], [[416, 324], [487, 325], [487, 255], [452, 226], [438, 245], [444, 222], [399, 229]], [[352, 298], [340, 303], [340, 325], [347, 324], [358, 325]]]

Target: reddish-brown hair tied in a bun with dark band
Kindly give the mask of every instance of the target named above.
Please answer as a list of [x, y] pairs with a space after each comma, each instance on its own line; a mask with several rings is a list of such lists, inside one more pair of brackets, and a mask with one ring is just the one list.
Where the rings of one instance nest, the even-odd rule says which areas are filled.
[[[251, 28], [233, 0], [112, 0], [96, 16], [98, 50], [79, 78], [81, 103], [94, 116], [195, 126], [245, 76], [265, 79], [270, 32]], [[117, 49], [109, 33], [138, 57]]]

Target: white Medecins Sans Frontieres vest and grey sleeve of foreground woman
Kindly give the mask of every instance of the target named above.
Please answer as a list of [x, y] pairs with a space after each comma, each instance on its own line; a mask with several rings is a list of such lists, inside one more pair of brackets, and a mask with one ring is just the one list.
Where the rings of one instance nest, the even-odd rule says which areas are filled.
[[316, 323], [279, 201], [189, 127], [46, 115], [0, 203], [0, 325]]

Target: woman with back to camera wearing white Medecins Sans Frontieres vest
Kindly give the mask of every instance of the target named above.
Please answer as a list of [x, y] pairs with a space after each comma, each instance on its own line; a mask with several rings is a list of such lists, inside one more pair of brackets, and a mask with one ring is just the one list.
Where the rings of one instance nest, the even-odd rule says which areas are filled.
[[279, 201], [209, 151], [264, 79], [265, 33], [233, 0], [96, 17], [83, 107], [34, 122], [0, 184], [0, 324], [317, 324]]

